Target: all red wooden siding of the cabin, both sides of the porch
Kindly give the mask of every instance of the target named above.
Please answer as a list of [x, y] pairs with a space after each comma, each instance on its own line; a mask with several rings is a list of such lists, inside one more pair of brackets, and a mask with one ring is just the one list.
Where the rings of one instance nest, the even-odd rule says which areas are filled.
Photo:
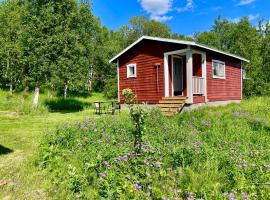
[[[137, 95], [137, 102], [158, 103], [164, 96], [164, 53], [186, 48], [186, 45], [144, 40], [119, 58], [120, 100], [124, 101], [122, 90], [131, 88]], [[207, 101], [226, 101], [241, 99], [241, 62], [211, 51], [207, 55]], [[193, 55], [193, 75], [201, 76], [201, 55]], [[225, 62], [226, 79], [214, 79], [212, 59]], [[137, 64], [137, 77], [127, 78], [127, 65]], [[155, 64], [159, 63], [158, 79]], [[186, 63], [184, 57], [184, 64]], [[169, 66], [171, 57], [169, 56]], [[184, 65], [184, 95], [186, 95], [186, 67]], [[169, 94], [171, 88], [171, 67], [169, 67]], [[194, 103], [205, 102], [203, 96], [194, 96]]]

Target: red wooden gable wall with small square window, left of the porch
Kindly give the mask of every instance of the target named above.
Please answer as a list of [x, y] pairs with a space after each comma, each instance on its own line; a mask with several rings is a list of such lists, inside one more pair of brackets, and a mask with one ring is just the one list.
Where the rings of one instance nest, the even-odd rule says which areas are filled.
[[[185, 45], [144, 40], [121, 56], [119, 58], [121, 102], [124, 101], [124, 97], [121, 94], [122, 90], [131, 88], [137, 95], [137, 102], [158, 103], [164, 96], [164, 53], [184, 48], [186, 48]], [[131, 63], [137, 64], [136, 78], [127, 78], [126, 66]], [[160, 64], [158, 80], [157, 70], [155, 68], [155, 64], [157, 63]], [[171, 76], [169, 80], [171, 80]], [[171, 94], [171, 84], [169, 88]]]

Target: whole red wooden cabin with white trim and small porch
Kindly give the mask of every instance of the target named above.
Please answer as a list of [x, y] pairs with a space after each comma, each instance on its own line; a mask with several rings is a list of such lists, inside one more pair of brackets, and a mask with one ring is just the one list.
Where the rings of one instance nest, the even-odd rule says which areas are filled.
[[245, 58], [191, 41], [143, 36], [110, 62], [118, 64], [121, 91], [131, 88], [139, 103], [186, 97], [186, 104], [242, 99]]

